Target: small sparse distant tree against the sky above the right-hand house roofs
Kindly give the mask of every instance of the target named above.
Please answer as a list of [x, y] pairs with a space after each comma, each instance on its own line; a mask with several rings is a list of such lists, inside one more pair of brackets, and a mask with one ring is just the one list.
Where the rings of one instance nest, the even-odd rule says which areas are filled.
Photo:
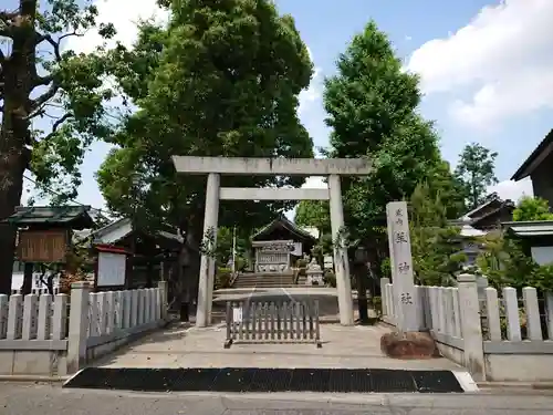
[[476, 209], [487, 199], [488, 187], [498, 183], [495, 177], [495, 157], [498, 153], [478, 143], [468, 144], [460, 154], [455, 170], [461, 183], [467, 208]]

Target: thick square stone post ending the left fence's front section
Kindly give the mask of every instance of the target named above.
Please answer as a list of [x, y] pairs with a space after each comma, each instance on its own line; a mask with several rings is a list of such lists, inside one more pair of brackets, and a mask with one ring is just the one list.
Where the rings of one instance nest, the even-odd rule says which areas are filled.
[[86, 361], [86, 338], [88, 330], [88, 282], [71, 284], [71, 308], [67, 335], [67, 373], [75, 373]]

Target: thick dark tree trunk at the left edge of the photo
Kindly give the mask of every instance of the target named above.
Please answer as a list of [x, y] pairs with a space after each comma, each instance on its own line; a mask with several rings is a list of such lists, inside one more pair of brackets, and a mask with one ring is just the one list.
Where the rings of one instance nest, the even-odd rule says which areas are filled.
[[[2, 126], [0, 131], [0, 220], [12, 215], [21, 201], [23, 173], [29, 164], [31, 144], [29, 98], [36, 80], [34, 20], [36, 0], [21, 0], [19, 17], [9, 29], [11, 54], [3, 58]], [[15, 229], [0, 225], [0, 293], [11, 292]]]

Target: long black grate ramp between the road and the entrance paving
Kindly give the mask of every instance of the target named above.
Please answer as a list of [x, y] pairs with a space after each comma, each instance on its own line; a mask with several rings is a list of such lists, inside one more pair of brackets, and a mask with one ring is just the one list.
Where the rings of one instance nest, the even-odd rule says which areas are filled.
[[449, 371], [384, 369], [102, 369], [64, 385], [143, 392], [463, 392]]

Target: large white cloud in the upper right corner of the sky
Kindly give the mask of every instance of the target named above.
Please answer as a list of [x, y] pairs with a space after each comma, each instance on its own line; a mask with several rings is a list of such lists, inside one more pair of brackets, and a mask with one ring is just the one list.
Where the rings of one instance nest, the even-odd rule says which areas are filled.
[[[458, 94], [450, 113], [480, 127], [553, 107], [553, 1], [503, 0], [416, 50], [408, 70], [427, 94]], [[461, 97], [471, 92], [470, 98]]]

